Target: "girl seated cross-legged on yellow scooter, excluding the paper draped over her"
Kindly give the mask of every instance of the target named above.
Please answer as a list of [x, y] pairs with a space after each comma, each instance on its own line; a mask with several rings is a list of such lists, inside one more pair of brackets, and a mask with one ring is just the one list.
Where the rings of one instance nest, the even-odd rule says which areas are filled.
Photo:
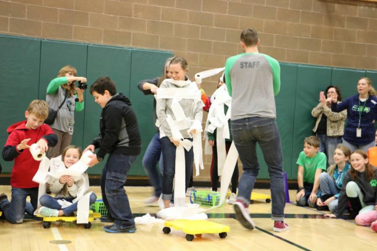
[[[51, 159], [50, 170], [69, 168], [80, 158], [80, 148], [74, 145], [69, 145], [64, 148], [61, 156]], [[88, 174], [85, 172], [81, 177], [82, 179], [74, 181], [72, 177], [67, 175], [61, 176], [60, 179], [55, 179], [50, 176], [48, 183], [50, 184], [50, 190], [55, 194], [55, 197], [50, 195], [41, 196], [39, 202], [42, 207], [39, 209], [38, 213], [43, 217], [57, 217], [63, 215], [69, 216], [77, 211], [78, 201], [74, 202], [74, 199], [76, 199], [78, 191], [84, 189], [85, 191], [83, 194], [85, 194], [89, 188]], [[88, 186], [84, 187], [85, 184], [88, 184]], [[89, 205], [93, 204], [96, 199], [97, 196], [95, 193], [90, 194]], [[72, 204], [67, 206], [64, 200]]]

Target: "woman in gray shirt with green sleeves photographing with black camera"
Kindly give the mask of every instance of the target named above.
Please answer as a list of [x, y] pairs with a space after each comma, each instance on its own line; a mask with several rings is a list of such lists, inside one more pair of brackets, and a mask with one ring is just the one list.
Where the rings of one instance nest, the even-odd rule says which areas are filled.
[[[58, 143], [55, 147], [49, 147], [49, 158], [59, 156], [64, 148], [70, 145], [74, 131], [74, 115], [84, 109], [84, 89], [75, 86], [75, 81], [86, 83], [86, 78], [76, 77], [77, 70], [72, 66], [64, 66], [58, 72], [58, 77], [51, 80], [47, 87], [46, 101], [49, 106], [49, 118], [51, 112], [57, 115], [54, 121], [45, 121], [50, 125], [58, 136]], [[85, 88], [86, 87], [86, 88]]]

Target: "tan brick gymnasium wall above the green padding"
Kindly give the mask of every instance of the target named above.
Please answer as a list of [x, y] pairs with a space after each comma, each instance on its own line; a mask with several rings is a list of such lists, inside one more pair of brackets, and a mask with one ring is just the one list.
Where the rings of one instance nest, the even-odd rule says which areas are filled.
[[[279, 61], [377, 69], [377, 3], [0, 0], [2, 34], [171, 50], [187, 59], [190, 77], [240, 53], [247, 27], [259, 32], [260, 52]], [[216, 78], [203, 87], [212, 93]]]

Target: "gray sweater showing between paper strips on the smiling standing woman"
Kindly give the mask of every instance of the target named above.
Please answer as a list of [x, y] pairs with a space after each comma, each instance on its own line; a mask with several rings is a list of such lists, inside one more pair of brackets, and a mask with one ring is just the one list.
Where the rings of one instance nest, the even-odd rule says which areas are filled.
[[[160, 88], [189, 88], [191, 81], [187, 80], [187, 85], [180, 87], [176, 86], [175, 84], [171, 83], [172, 79], [164, 80]], [[179, 101], [185, 115], [187, 118], [191, 120], [197, 120], [202, 122], [203, 119], [203, 103], [201, 100], [194, 100], [194, 99], [182, 99]], [[172, 99], [157, 99], [156, 104], [156, 113], [158, 121], [160, 122], [162, 131], [166, 134], [168, 138], [172, 137], [172, 131], [170, 130], [169, 124], [166, 121], [167, 115], [171, 115], [173, 120], [175, 120], [175, 116], [172, 111]], [[180, 131], [184, 138], [190, 138], [187, 129]]]

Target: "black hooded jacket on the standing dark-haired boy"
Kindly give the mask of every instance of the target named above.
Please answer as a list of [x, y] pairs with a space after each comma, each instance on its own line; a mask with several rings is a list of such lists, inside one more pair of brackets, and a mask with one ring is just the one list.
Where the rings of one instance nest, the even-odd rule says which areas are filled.
[[100, 135], [92, 144], [100, 148], [97, 156], [104, 158], [106, 153], [139, 155], [141, 138], [138, 121], [130, 100], [122, 93], [116, 93], [102, 109]]

